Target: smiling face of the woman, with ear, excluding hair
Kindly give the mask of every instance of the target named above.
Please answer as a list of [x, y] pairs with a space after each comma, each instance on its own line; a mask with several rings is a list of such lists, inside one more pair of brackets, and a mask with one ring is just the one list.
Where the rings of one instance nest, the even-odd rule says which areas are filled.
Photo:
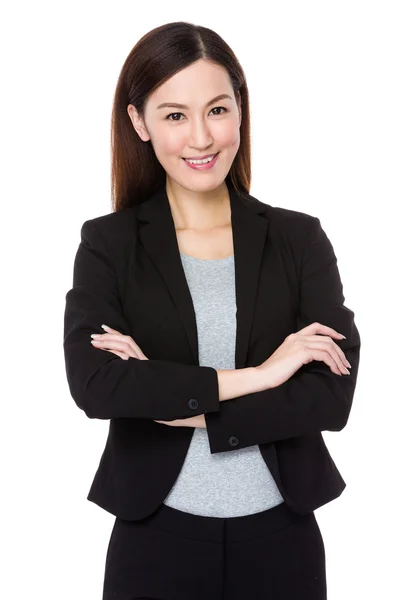
[[[239, 149], [241, 123], [226, 69], [198, 60], [149, 96], [144, 119], [131, 104], [128, 113], [140, 138], [152, 143], [167, 178], [193, 191], [223, 183]], [[210, 169], [193, 169], [184, 160], [217, 153]]]

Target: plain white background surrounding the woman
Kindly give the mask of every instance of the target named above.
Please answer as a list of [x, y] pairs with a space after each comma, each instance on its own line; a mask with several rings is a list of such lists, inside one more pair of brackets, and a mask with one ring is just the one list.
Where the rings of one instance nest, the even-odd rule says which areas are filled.
[[64, 298], [81, 224], [111, 211], [123, 61], [147, 31], [178, 20], [214, 29], [237, 54], [251, 193], [320, 218], [361, 334], [350, 419], [324, 434], [347, 483], [316, 511], [329, 600], [416, 598], [417, 19], [399, 0], [3, 11], [0, 595], [101, 599], [114, 517], [86, 496], [108, 422], [69, 394]]

